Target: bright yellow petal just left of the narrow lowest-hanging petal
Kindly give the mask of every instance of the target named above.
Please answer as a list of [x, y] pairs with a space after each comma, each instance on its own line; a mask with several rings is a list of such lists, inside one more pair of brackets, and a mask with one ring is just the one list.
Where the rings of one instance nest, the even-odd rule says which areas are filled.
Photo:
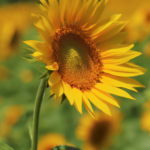
[[73, 88], [72, 90], [74, 97], [74, 105], [76, 109], [82, 114], [82, 92], [77, 88]]

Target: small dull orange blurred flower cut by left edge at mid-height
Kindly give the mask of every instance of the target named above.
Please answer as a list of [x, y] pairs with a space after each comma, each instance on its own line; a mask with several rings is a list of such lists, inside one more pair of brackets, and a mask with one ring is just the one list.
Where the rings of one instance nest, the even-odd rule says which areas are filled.
[[0, 81], [7, 79], [9, 70], [6, 66], [0, 65]]

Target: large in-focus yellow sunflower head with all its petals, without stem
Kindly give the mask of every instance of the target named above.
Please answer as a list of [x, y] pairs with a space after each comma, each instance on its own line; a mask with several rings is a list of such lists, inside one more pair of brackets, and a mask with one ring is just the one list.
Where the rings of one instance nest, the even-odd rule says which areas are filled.
[[[121, 32], [127, 22], [117, 21], [120, 14], [101, 19], [107, 0], [41, 0], [34, 24], [43, 42], [30, 40], [34, 58], [52, 70], [48, 83], [56, 99], [65, 95], [82, 113], [82, 102], [94, 117], [90, 101], [111, 115], [107, 103], [119, 107], [110, 95], [135, 100], [119, 87], [137, 91], [142, 84], [129, 77], [145, 69], [130, 62], [140, 52], [134, 45], [122, 44]], [[110, 93], [110, 94], [109, 94]]]

